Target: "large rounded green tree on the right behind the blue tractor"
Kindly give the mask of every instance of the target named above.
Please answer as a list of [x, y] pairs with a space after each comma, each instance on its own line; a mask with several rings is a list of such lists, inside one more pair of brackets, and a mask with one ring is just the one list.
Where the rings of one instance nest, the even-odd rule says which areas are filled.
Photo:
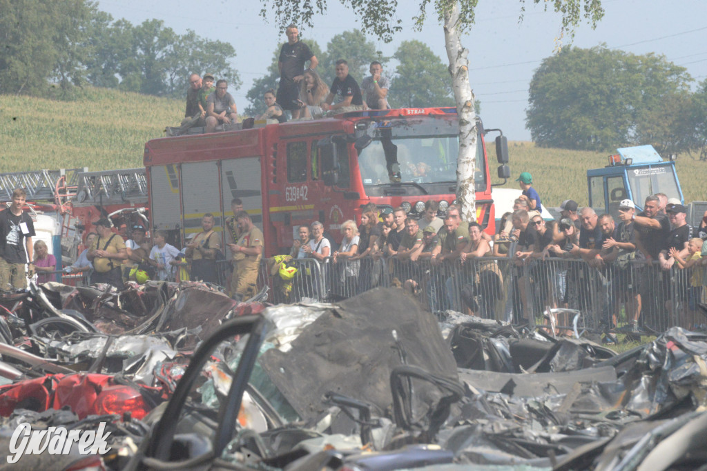
[[527, 127], [533, 141], [545, 147], [612, 150], [653, 143], [674, 148], [680, 138], [666, 126], [665, 113], [679, 109], [690, 80], [684, 68], [663, 56], [566, 48], [544, 59], [534, 73]]

